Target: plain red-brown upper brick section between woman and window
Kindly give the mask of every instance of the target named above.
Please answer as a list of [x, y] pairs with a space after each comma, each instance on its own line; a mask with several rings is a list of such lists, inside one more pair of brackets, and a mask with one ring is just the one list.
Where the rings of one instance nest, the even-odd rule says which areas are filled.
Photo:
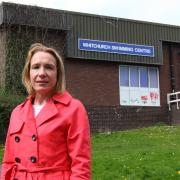
[[119, 104], [118, 63], [66, 59], [67, 89], [86, 105]]

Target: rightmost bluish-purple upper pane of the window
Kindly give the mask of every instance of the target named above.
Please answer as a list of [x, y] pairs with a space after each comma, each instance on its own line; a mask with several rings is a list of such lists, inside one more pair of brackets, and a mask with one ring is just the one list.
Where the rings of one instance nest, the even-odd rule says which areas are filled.
[[149, 68], [150, 88], [158, 88], [158, 73], [156, 68]]

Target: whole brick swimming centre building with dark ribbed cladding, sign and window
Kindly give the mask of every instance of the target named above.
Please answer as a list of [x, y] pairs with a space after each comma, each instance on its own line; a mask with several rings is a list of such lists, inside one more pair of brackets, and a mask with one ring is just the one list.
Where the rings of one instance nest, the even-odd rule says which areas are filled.
[[0, 87], [23, 93], [31, 43], [64, 57], [68, 91], [86, 106], [93, 131], [171, 124], [167, 93], [180, 89], [180, 27], [2, 3]]

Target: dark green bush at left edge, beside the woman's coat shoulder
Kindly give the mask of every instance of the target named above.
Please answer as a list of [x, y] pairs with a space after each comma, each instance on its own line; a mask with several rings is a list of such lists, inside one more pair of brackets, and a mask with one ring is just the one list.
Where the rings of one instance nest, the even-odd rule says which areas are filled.
[[24, 96], [14, 96], [0, 92], [0, 144], [5, 141], [11, 111], [22, 102], [24, 98]]

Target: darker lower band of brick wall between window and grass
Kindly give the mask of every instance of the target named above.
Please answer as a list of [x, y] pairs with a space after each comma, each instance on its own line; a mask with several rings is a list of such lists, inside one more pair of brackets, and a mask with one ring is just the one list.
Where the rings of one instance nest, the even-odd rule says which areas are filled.
[[170, 124], [168, 107], [87, 106], [86, 108], [92, 132], [141, 128], [157, 122]]

